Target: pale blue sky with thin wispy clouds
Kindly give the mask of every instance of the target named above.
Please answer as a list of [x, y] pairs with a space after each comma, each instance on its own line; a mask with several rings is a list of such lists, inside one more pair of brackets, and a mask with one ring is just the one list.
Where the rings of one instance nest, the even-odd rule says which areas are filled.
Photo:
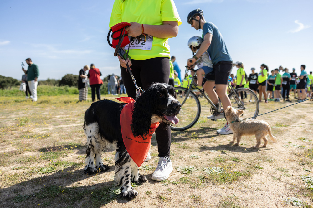
[[[175, 1], [175, 0], [174, 0]], [[103, 75], [120, 74], [106, 36], [113, 0], [0, 1], [0, 75], [21, 79], [21, 61], [39, 66], [39, 80], [78, 74], [94, 63]], [[201, 8], [207, 22], [221, 31], [233, 61], [250, 68], [267, 64], [313, 70], [313, 1], [176, 0], [182, 19], [171, 55], [182, 71], [192, 52], [187, 41], [202, 35], [187, 24], [188, 13]], [[235, 73], [235, 68], [233, 68]]]

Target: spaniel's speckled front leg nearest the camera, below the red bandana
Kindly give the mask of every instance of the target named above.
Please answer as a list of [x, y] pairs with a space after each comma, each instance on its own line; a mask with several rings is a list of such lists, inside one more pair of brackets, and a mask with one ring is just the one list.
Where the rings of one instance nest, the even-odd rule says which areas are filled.
[[127, 150], [116, 152], [114, 180], [116, 181], [117, 186], [121, 186], [120, 195], [128, 200], [131, 200], [138, 195], [138, 192], [131, 186], [131, 161], [132, 159]]

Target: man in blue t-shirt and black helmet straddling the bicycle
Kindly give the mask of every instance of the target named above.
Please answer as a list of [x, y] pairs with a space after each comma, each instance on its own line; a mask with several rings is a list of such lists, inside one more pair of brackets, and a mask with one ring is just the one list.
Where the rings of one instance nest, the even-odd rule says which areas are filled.
[[[213, 62], [215, 82], [205, 82], [203, 89], [207, 92], [209, 98], [215, 105], [218, 105], [218, 98], [220, 98], [223, 108], [226, 109], [228, 106], [231, 106], [230, 99], [227, 95], [227, 86], [233, 60], [228, 53], [223, 36], [213, 23], [205, 21], [203, 12], [200, 9], [190, 12], [187, 17], [187, 22], [196, 30], [203, 30], [203, 42], [197, 53], [191, 59], [187, 60], [187, 66], [193, 65], [205, 51], [208, 52]], [[216, 92], [213, 90], [214, 86]], [[208, 118], [211, 119], [210, 117]], [[224, 113], [221, 112], [218, 118], [224, 118]], [[216, 132], [219, 134], [233, 133], [228, 123]]]

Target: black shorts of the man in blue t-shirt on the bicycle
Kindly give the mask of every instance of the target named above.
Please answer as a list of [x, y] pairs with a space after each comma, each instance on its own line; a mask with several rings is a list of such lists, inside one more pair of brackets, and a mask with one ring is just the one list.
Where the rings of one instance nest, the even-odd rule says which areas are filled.
[[228, 85], [228, 77], [233, 68], [233, 62], [220, 61], [213, 64], [213, 71], [215, 74], [215, 85]]

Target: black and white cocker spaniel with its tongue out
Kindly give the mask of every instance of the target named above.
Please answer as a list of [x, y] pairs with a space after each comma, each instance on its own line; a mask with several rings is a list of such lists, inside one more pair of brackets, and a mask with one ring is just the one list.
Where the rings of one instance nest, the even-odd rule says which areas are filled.
[[[138, 195], [131, 182], [141, 184], [147, 178], [139, 174], [139, 167], [129, 156], [123, 142], [120, 114], [125, 103], [100, 100], [91, 104], [85, 112], [84, 132], [87, 136], [85, 174], [106, 171], [108, 165], [101, 160], [101, 153], [109, 145], [116, 147], [116, 186], [121, 186], [121, 196], [132, 199]], [[151, 123], [165, 123], [168, 126], [177, 119], [181, 104], [176, 99], [175, 88], [171, 85], [154, 83], [136, 98], [132, 115], [134, 136], [144, 136], [150, 131]], [[95, 161], [94, 161], [95, 159]]]

